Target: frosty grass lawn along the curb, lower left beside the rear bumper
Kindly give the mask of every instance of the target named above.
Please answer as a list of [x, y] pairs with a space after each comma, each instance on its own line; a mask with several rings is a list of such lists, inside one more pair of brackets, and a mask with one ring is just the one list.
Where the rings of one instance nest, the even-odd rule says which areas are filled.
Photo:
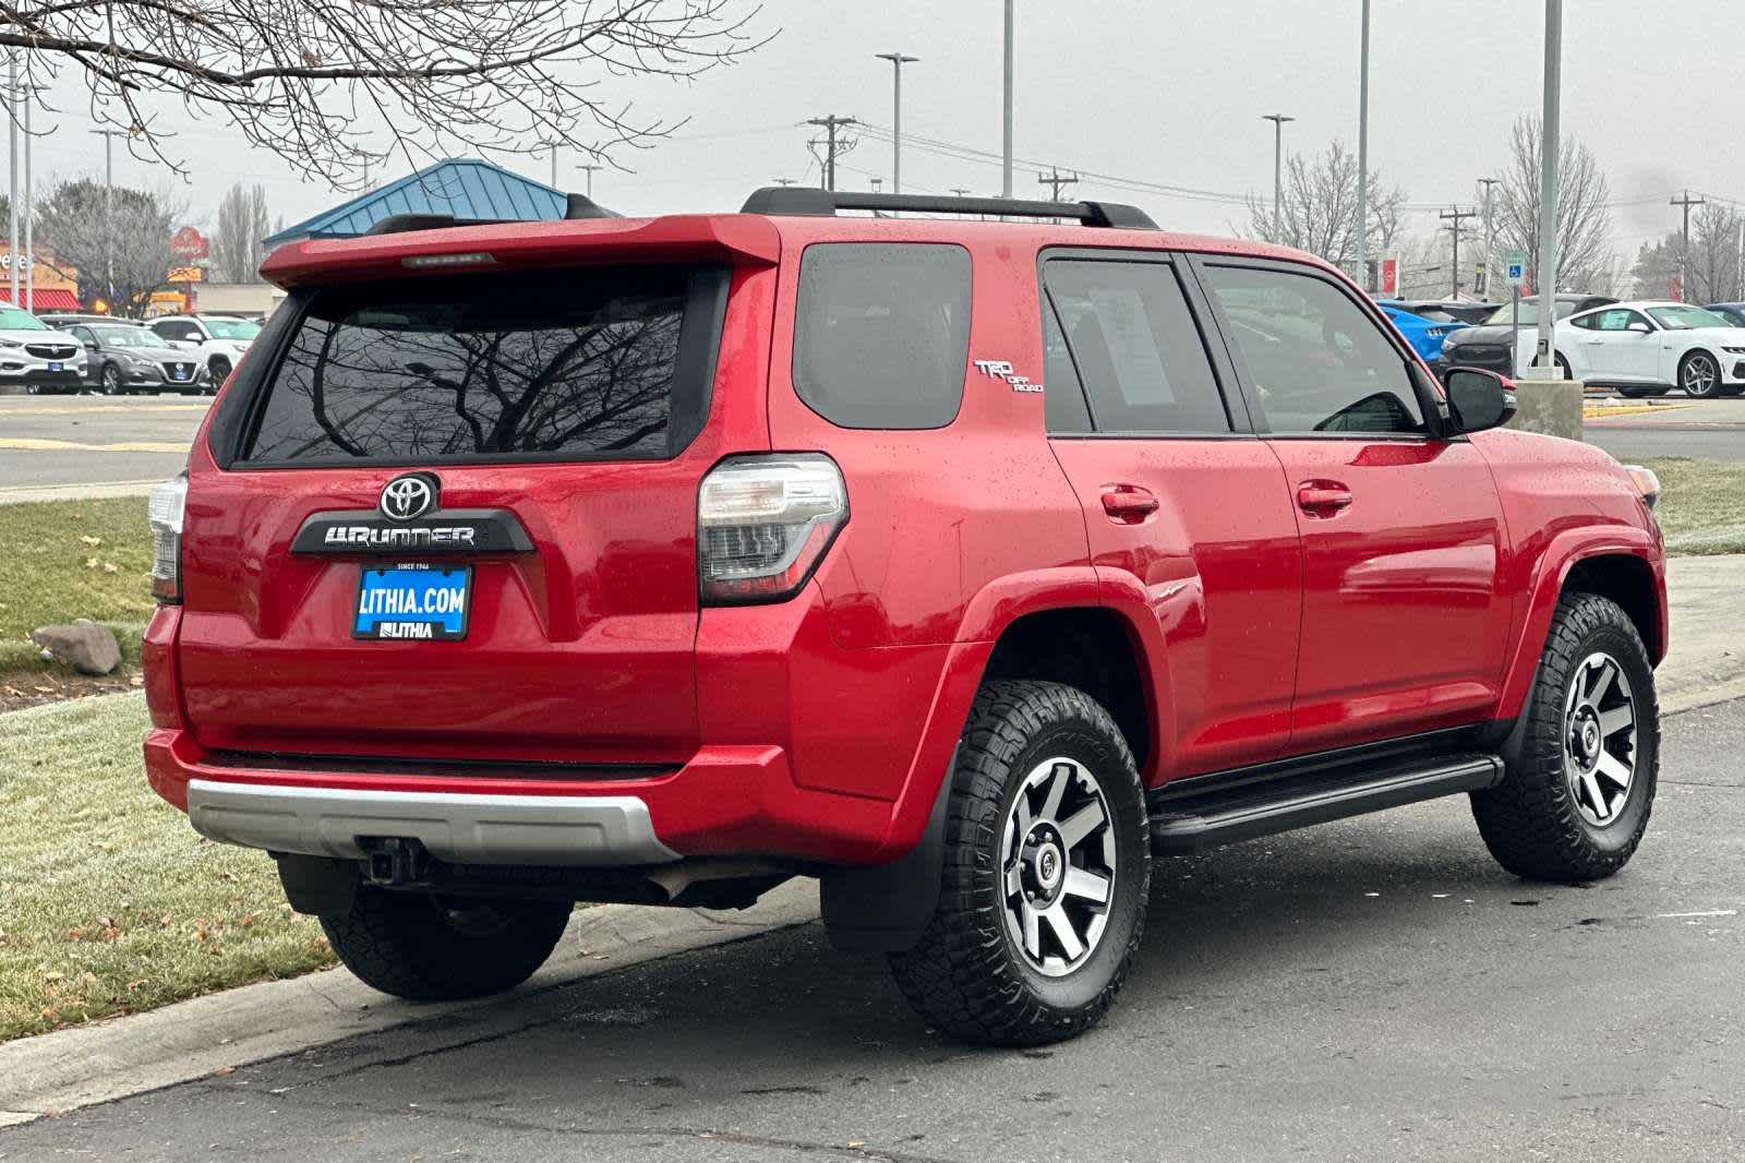
[[140, 695], [0, 718], [0, 1041], [333, 960], [269, 856], [147, 786], [145, 728]]

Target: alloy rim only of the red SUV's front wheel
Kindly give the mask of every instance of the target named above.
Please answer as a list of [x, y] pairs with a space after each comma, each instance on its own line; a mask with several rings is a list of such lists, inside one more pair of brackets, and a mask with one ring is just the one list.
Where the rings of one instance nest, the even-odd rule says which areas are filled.
[[1576, 809], [1595, 828], [1625, 810], [1637, 761], [1637, 707], [1630, 679], [1607, 653], [1588, 655], [1564, 700], [1564, 777]]

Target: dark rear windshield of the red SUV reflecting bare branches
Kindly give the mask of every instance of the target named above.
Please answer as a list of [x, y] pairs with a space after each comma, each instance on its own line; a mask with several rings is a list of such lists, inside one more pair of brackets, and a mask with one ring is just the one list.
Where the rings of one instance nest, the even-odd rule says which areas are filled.
[[724, 267], [318, 290], [260, 384], [251, 463], [668, 458], [701, 428]]

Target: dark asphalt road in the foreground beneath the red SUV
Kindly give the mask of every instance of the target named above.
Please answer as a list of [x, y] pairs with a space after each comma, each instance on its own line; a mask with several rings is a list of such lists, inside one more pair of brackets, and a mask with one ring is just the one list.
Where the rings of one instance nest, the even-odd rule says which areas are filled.
[[948, 1041], [811, 924], [40, 1119], [0, 1160], [1736, 1160], [1745, 700], [1665, 730], [1647, 840], [1595, 885], [1506, 875], [1464, 798], [1160, 863], [1068, 1044]]

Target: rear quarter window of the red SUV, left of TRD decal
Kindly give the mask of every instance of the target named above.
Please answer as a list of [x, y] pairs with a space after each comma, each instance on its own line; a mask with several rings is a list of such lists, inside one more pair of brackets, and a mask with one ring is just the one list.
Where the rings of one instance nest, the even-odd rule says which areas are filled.
[[794, 391], [839, 428], [944, 428], [963, 400], [970, 255], [815, 243], [799, 262]]

